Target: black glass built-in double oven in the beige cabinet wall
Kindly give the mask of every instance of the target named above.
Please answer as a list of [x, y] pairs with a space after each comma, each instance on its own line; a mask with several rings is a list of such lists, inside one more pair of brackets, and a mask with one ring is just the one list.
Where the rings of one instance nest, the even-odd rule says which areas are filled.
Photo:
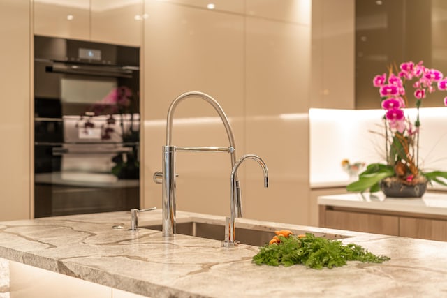
[[34, 216], [138, 208], [140, 50], [34, 36]]

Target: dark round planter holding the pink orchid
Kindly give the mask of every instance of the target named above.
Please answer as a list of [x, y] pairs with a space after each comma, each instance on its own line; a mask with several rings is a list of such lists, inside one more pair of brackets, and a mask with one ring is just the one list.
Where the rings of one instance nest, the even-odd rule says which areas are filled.
[[389, 198], [420, 198], [427, 190], [427, 181], [409, 185], [393, 178], [386, 178], [380, 182], [380, 188]]

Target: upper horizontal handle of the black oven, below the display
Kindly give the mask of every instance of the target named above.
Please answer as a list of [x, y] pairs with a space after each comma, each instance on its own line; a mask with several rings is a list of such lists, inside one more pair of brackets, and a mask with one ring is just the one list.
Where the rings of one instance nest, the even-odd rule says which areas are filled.
[[132, 78], [134, 67], [131, 66], [85, 66], [80, 64], [52, 64], [45, 66], [47, 73], [64, 73], [68, 75], [94, 75], [98, 77]]

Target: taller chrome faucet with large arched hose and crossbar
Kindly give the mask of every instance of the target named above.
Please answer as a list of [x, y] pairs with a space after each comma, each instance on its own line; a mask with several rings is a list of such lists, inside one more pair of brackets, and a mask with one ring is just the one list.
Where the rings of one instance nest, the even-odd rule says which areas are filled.
[[[173, 114], [175, 108], [179, 103], [181, 103], [186, 98], [201, 98], [205, 100], [207, 103], [210, 103], [214, 110], [216, 110], [217, 114], [221, 118], [223, 122], [223, 126], [225, 126], [226, 134], [228, 135], [228, 141], [230, 142], [229, 147], [179, 147], [173, 146], [172, 142], [172, 126], [173, 126]], [[233, 131], [231, 130], [231, 126], [228, 122], [228, 118], [226, 117], [225, 112], [223, 112], [221, 106], [217, 101], [211, 96], [199, 92], [199, 91], [191, 91], [181, 94], [173, 102], [170, 104], [168, 109], [168, 117], [166, 120], [166, 146], [163, 146], [163, 170], [161, 172], [156, 172], [154, 174], [154, 181], [156, 183], [163, 184], [162, 191], [162, 210], [163, 210], [163, 218], [162, 218], [162, 229], [163, 229], [163, 237], [173, 237], [175, 234], [175, 180], [177, 174], [175, 174], [175, 153], [177, 151], [190, 151], [190, 152], [199, 152], [199, 151], [209, 151], [209, 152], [228, 152], [231, 156], [231, 166], [234, 167], [236, 163], [236, 147], [235, 140], [233, 136]], [[235, 180], [235, 213], [239, 216], [242, 216], [242, 207], [241, 207], [241, 198], [240, 198], [240, 188], [239, 181], [237, 180], [237, 176], [234, 177]]]

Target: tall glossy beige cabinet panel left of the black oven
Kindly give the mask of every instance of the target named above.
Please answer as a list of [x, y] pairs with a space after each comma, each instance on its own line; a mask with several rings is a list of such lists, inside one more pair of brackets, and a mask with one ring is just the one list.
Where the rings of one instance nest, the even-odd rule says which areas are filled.
[[0, 1], [0, 221], [30, 217], [29, 6]]

